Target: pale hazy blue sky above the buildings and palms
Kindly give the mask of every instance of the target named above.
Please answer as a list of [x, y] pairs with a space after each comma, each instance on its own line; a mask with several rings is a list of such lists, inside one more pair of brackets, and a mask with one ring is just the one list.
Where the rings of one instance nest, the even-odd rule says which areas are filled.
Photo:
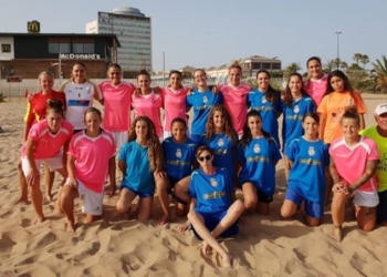
[[[84, 33], [98, 11], [134, 7], [151, 18], [155, 71], [209, 68], [251, 55], [278, 57], [305, 71], [312, 55], [323, 63], [354, 53], [372, 62], [387, 52], [385, 0], [0, 0], [0, 32]], [[369, 63], [366, 68], [372, 69]]]

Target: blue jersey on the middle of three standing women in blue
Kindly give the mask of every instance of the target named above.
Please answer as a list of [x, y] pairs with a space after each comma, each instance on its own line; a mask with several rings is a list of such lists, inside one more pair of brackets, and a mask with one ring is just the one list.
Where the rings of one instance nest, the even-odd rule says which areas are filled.
[[270, 102], [264, 92], [254, 89], [249, 92], [249, 106], [260, 112], [262, 116], [262, 129], [266, 131], [280, 145], [278, 115], [282, 112], [280, 93], [275, 94], [274, 102]]

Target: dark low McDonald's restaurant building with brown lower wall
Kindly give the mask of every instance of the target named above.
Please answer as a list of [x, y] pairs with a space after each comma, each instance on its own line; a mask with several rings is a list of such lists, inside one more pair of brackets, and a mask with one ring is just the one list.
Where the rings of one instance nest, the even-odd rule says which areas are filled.
[[[36, 79], [41, 71], [70, 78], [72, 64], [86, 65], [88, 78], [105, 78], [117, 61], [114, 34], [0, 33], [0, 80]], [[62, 74], [61, 74], [62, 72]]]

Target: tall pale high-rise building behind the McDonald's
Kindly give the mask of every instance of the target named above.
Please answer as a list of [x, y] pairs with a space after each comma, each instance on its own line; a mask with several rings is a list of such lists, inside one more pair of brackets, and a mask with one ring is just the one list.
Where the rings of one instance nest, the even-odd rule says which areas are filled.
[[151, 73], [151, 20], [138, 9], [122, 7], [98, 12], [97, 20], [86, 23], [86, 33], [114, 33], [121, 48], [117, 60], [125, 78], [135, 78], [140, 69]]

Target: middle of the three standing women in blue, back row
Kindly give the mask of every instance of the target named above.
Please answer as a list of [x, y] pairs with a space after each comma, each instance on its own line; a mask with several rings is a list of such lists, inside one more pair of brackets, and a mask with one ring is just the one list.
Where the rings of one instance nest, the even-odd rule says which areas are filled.
[[248, 95], [248, 104], [251, 110], [257, 110], [262, 116], [262, 127], [275, 140], [279, 140], [279, 122], [281, 115], [280, 93], [270, 85], [270, 73], [266, 70], [257, 72], [258, 88], [250, 91]]

